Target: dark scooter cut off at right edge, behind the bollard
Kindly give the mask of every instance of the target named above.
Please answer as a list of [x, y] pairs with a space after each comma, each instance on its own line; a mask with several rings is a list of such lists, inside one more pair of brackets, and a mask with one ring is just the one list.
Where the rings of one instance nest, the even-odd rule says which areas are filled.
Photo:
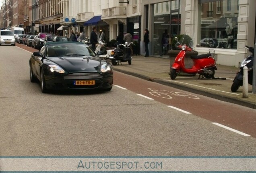
[[242, 64], [240, 65], [240, 70], [237, 72], [233, 84], [231, 85], [231, 91], [235, 92], [239, 89], [240, 86], [243, 86], [243, 75], [244, 75], [244, 67], [247, 66], [248, 68], [248, 83], [252, 85], [252, 77], [253, 77], [253, 59], [254, 59], [254, 48], [246, 46], [246, 49], [249, 50], [252, 54], [247, 56]]

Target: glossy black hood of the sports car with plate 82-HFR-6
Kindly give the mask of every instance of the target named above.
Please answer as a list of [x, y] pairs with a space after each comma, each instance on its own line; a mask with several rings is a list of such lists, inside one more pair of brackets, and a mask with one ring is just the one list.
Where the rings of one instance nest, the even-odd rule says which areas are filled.
[[49, 60], [68, 70], [68, 72], [97, 72], [101, 64], [100, 58], [90, 56], [59, 56], [50, 57]]

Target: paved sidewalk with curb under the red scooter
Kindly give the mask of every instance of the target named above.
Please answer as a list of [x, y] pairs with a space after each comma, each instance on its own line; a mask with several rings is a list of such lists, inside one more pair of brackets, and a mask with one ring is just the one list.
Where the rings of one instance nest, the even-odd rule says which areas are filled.
[[128, 62], [123, 62], [122, 65], [113, 66], [114, 70], [170, 87], [256, 109], [256, 94], [251, 94], [252, 86], [250, 84], [248, 98], [242, 98], [242, 87], [235, 93], [232, 93], [230, 90], [233, 83], [232, 80], [239, 70], [237, 67], [217, 64], [218, 70], [215, 70], [215, 77], [226, 78], [226, 80], [198, 79], [198, 74], [196, 76], [181, 74], [175, 80], [171, 80], [169, 76], [170, 60], [168, 56], [161, 58], [151, 56], [145, 58], [144, 56], [138, 55], [132, 57], [131, 65]]

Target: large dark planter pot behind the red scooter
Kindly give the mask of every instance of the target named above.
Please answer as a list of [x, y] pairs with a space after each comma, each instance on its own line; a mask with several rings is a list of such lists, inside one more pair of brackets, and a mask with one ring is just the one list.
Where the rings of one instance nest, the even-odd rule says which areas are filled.
[[[170, 71], [169, 74], [171, 74], [171, 66], [176, 58], [176, 56], [178, 55], [178, 53], [180, 52], [180, 50], [169, 50], [168, 54], [170, 57]], [[194, 65], [193, 60], [190, 58], [191, 55], [198, 55], [197, 51], [187, 51], [185, 58], [184, 58], [184, 64], [185, 64], [185, 68], [192, 68]]]

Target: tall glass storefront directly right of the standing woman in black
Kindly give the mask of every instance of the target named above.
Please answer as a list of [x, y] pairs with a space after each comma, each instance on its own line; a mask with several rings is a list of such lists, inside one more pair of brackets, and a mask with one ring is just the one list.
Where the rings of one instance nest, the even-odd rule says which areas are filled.
[[167, 55], [167, 51], [171, 49], [171, 39], [180, 34], [180, 5], [180, 0], [153, 5], [153, 41], [151, 46], [153, 46], [154, 55]]

